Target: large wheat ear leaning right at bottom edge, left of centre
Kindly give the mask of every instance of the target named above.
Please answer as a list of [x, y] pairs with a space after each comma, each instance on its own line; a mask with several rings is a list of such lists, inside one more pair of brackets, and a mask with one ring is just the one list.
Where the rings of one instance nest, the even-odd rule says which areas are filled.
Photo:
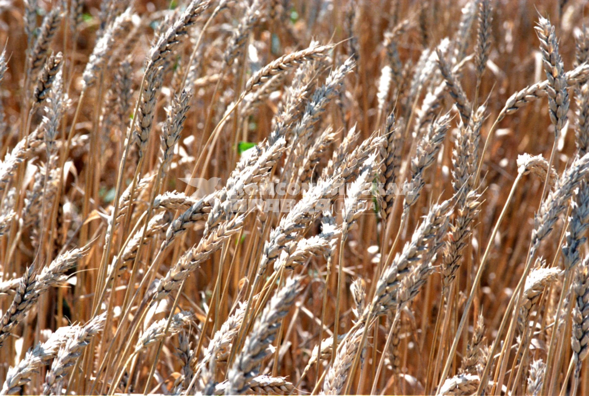
[[267, 303], [227, 374], [229, 386], [225, 394], [244, 394], [250, 388], [250, 382], [258, 374], [262, 359], [268, 354], [266, 347], [276, 338], [280, 321], [288, 314], [298, 291], [299, 278], [289, 278]]

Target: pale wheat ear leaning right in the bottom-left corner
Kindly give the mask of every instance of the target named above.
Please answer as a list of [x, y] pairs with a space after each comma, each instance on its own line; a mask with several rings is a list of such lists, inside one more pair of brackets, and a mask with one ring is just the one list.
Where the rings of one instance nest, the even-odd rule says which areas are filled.
[[57, 351], [70, 339], [80, 326], [60, 327], [45, 342], [40, 342], [27, 351], [18, 365], [8, 369], [6, 381], [2, 385], [0, 395], [12, 395], [22, 390], [31, 381], [33, 375], [38, 374], [42, 366], [55, 358]]

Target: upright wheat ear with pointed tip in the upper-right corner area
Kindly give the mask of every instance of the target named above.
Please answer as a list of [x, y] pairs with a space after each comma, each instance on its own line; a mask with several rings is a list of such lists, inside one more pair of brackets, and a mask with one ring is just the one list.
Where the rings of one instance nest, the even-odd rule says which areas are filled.
[[538, 34], [538, 39], [540, 39], [544, 71], [548, 78], [546, 91], [548, 93], [550, 120], [554, 124], [554, 133], [558, 137], [560, 131], [564, 128], [564, 124], [567, 123], [569, 106], [568, 84], [564, 74], [564, 64], [558, 52], [558, 40], [556, 38], [555, 28], [550, 24], [550, 21], [540, 17], [535, 30]]

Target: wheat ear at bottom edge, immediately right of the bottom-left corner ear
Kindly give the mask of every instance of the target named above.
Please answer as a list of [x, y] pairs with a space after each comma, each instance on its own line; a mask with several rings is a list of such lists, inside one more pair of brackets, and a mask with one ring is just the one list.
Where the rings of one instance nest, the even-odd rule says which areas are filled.
[[51, 369], [45, 375], [43, 394], [61, 394], [64, 378], [70, 374], [71, 368], [82, 355], [92, 338], [102, 331], [107, 313], [95, 316], [87, 324], [81, 326], [57, 352], [57, 357], [51, 364]]

